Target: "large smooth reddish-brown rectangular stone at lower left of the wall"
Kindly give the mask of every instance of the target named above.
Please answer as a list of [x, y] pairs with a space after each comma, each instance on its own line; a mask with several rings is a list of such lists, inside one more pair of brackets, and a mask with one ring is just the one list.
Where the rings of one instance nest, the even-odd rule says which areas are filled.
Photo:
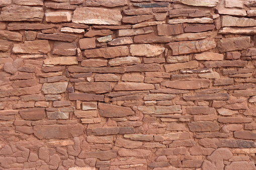
[[67, 139], [83, 135], [81, 124], [51, 124], [33, 126], [34, 135], [39, 139]]

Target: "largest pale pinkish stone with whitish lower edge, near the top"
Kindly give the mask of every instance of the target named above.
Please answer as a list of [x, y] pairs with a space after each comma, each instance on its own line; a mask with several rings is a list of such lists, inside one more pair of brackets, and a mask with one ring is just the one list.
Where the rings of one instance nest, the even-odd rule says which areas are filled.
[[72, 22], [76, 24], [121, 25], [122, 15], [118, 10], [102, 8], [77, 8]]

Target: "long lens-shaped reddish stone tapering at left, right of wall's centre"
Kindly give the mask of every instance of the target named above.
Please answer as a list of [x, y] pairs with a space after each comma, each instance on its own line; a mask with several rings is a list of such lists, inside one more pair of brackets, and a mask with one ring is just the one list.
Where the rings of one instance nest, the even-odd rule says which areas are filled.
[[200, 88], [207, 88], [211, 83], [209, 79], [191, 79], [191, 80], [175, 80], [175, 81], [165, 81], [162, 82], [162, 86], [175, 88], [175, 89], [182, 89], [182, 90], [189, 90], [189, 89], [200, 89]]

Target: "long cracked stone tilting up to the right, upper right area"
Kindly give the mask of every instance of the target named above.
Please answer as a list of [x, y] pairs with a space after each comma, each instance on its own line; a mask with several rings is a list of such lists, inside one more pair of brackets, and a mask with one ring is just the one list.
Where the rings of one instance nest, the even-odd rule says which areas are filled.
[[200, 53], [216, 47], [213, 38], [206, 38], [199, 41], [182, 41], [167, 44], [173, 51], [173, 55]]

